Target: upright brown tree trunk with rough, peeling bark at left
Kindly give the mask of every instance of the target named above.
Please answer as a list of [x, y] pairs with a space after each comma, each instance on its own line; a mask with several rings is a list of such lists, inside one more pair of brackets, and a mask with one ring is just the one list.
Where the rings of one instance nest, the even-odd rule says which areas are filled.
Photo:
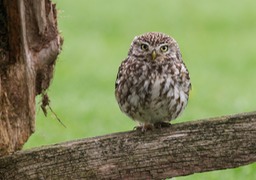
[[0, 0], [0, 156], [34, 132], [35, 96], [48, 88], [60, 47], [49, 0]]

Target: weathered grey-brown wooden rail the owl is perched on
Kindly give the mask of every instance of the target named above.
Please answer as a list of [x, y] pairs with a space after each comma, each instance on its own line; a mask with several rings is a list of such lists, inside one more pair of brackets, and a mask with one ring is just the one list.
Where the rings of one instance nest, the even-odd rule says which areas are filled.
[[3, 179], [163, 179], [256, 161], [256, 113], [130, 131], [0, 158]]

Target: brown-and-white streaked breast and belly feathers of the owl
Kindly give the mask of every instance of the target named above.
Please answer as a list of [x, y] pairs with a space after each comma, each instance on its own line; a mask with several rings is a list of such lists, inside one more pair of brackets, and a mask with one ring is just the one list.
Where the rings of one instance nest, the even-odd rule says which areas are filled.
[[183, 81], [187, 73], [183, 65], [127, 64], [119, 81], [122, 100], [118, 102], [124, 113], [139, 122], [156, 123], [175, 119], [184, 110], [190, 83]]

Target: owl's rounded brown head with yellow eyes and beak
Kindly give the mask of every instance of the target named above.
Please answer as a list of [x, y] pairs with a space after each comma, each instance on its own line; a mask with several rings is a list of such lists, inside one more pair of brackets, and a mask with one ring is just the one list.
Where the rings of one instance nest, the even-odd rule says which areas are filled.
[[170, 36], [160, 32], [148, 32], [136, 36], [132, 41], [128, 56], [136, 60], [163, 62], [181, 60], [177, 42]]

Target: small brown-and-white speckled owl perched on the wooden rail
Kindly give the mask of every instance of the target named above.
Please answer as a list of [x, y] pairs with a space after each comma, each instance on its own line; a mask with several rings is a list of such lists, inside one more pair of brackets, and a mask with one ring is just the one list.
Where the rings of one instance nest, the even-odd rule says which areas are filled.
[[122, 112], [143, 132], [169, 126], [187, 105], [189, 72], [177, 42], [160, 32], [136, 36], [121, 63], [115, 97]]

